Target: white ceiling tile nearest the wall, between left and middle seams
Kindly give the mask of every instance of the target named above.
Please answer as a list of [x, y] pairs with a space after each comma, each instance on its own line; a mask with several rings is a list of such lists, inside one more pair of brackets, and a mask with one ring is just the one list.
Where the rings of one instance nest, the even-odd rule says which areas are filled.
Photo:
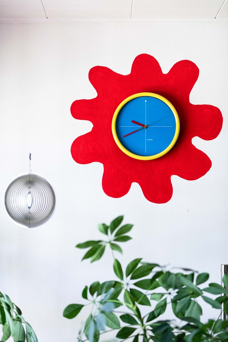
[[130, 18], [131, 9], [110, 8], [45, 8], [48, 18], [73, 18], [73, 19], [116, 19]]

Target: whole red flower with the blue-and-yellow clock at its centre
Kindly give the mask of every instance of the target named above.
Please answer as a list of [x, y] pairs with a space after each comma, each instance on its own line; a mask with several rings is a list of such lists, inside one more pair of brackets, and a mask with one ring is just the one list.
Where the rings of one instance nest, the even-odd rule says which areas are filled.
[[147, 200], [165, 203], [173, 195], [172, 175], [196, 180], [209, 171], [210, 158], [192, 138], [215, 139], [223, 118], [217, 107], [190, 103], [198, 75], [198, 67], [187, 60], [163, 74], [148, 54], [135, 58], [128, 75], [103, 66], [90, 70], [97, 96], [73, 102], [71, 114], [91, 121], [93, 128], [77, 137], [71, 154], [80, 164], [103, 164], [102, 187], [108, 196], [124, 196], [137, 182]]

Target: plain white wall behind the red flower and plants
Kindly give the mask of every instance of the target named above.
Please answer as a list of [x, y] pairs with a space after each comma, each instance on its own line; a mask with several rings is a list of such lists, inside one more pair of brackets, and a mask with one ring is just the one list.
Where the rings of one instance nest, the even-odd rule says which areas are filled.
[[[209, 272], [220, 282], [227, 253], [227, 24], [224, 21], [1, 22], [0, 88], [0, 291], [10, 295], [35, 329], [39, 342], [76, 340], [82, 315], [62, 316], [95, 280], [113, 278], [111, 255], [103, 262], [80, 263], [75, 245], [100, 239], [100, 222], [120, 214], [134, 223], [133, 240], [118, 259], [131, 258]], [[178, 61], [196, 63], [200, 75], [193, 104], [217, 106], [224, 124], [212, 141], [193, 143], [212, 160], [197, 181], [172, 176], [173, 197], [165, 204], [147, 201], [138, 184], [119, 199], [102, 190], [103, 165], [79, 165], [71, 143], [91, 130], [71, 117], [70, 105], [92, 98], [91, 67], [103, 65], [129, 74], [134, 58], [153, 55], [164, 73]], [[43, 226], [16, 226], [4, 209], [11, 180], [29, 169], [43, 175], [57, 194], [54, 216]], [[192, 161], [194, 162], [194, 161]], [[212, 315], [204, 312], [205, 318]]]

